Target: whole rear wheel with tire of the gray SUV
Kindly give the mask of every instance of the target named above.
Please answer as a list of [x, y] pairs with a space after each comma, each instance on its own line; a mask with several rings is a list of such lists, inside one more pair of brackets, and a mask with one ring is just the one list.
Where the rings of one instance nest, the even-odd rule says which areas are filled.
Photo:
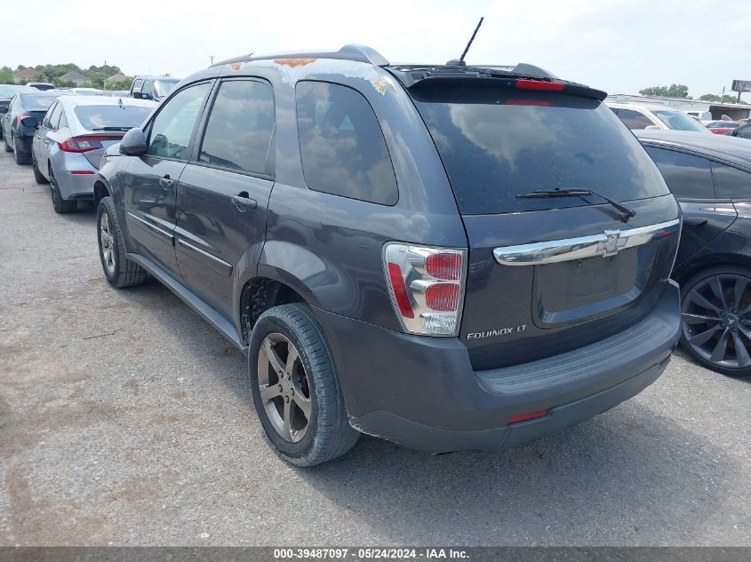
[[360, 434], [348, 423], [332, 354], [307, 305], [270, 308], [248, 353], [253, 405], [285, 461], [308, 467], [344, 455]]

